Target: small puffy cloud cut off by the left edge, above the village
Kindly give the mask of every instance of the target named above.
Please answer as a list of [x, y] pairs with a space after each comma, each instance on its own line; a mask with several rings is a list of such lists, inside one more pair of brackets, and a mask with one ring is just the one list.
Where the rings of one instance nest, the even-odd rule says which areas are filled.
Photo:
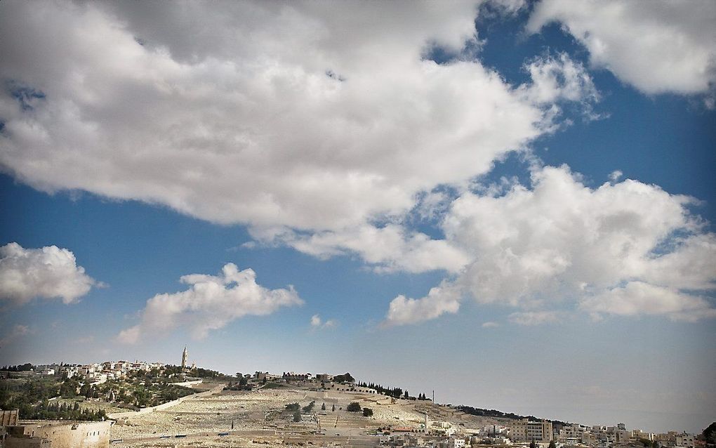
[[95, 283], [67, 249], [25, 249], [17, 243], [0, 247], [0, 300], [24, 305], [36, 297], [57, 297], [74, 303]]

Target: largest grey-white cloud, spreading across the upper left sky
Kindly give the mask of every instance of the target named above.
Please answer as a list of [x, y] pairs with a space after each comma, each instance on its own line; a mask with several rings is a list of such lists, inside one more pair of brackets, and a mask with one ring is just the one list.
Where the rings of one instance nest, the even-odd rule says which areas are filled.
[[478, 3], [2, 2], [0, 165], [42, 191], [357, 232], [550, 128], [479, 61], [422, 59], [475, 39]]

